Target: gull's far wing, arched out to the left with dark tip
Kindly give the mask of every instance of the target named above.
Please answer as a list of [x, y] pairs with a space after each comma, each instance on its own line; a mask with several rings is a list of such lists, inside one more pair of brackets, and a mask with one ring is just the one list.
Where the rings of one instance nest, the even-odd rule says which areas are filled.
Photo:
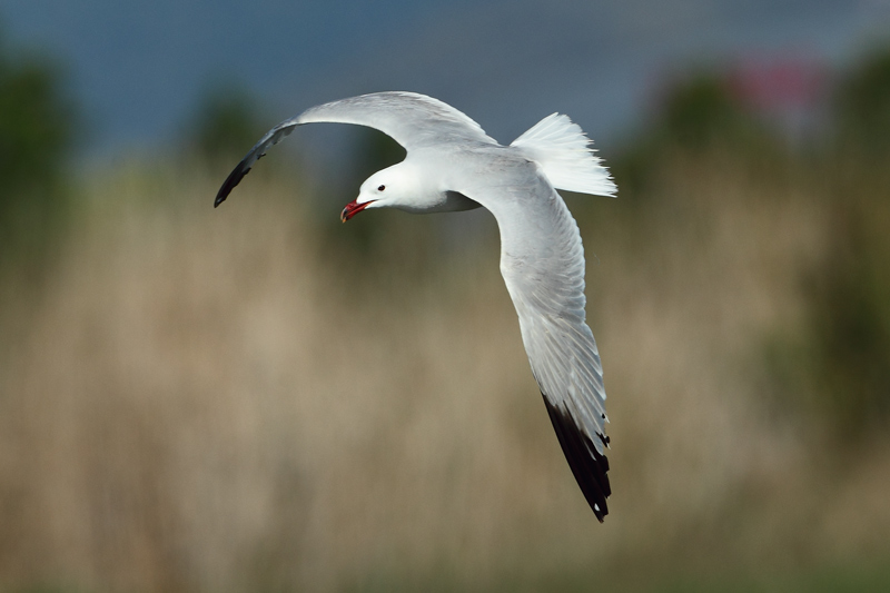
[[250, 149], [226, 178], [216, 196], [219, 206], [250, 171], [266, 151], [280, 142], [294, 128], [313, 122], [356, 123], [375, 128], [411, 151], [443, 142], [483, 142], [496, 145], [478, 123], [447, 103], [416, 92], [375, 92], [342, 99], [316, 107], [281, 121]]

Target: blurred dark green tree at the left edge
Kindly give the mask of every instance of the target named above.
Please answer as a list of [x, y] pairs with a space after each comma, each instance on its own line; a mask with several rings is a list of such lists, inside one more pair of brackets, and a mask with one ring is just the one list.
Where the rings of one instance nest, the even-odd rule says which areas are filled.
[[0, 37], [0, 263], [36, 265], [65, 219], [76, 118], [63, 79], [57, 63], [13, 53]]

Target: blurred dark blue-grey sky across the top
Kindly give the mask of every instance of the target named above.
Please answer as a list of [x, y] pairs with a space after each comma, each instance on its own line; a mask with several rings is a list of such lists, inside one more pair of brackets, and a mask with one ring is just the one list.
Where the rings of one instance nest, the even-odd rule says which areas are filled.
[[398, 89], [502, 141], [556, 110], [609, 137], [683, 65], [850, 59], [890, 31], [890, 0], [4, 0], [0, 23], [67, 65], [105, 152], [175, 138], [210, 81], [248, 87], [270, 122]]

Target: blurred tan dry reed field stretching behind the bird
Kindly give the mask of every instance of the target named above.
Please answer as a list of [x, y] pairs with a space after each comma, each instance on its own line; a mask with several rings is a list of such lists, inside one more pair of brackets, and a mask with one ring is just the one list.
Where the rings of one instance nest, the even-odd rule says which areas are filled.
[[0, 590], [660, 591], [887, 561], [890, 441], [834, 454], [777, 411], [763, 354], [804, 324], [832, 213], [818, 180], [711, 165], [636, 205], [568, 199], [612, 421], [603, 525], [484, 213], [448, 241], [477, 215], [333, 227], [274, 177], [218, 210], [220, 179], [172, 166], [86, 181], [46, 285], [2, 294]]

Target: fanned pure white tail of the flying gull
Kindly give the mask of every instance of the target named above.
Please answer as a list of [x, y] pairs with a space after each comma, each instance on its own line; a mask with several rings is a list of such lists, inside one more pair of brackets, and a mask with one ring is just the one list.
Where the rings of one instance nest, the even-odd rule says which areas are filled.
[[541, 166], [553, 187], [580, 194], [614, 196], [609, 170], [590, 148], [591, 140], [567, 116], [553, 113], [510, 146], [521, 148]]

